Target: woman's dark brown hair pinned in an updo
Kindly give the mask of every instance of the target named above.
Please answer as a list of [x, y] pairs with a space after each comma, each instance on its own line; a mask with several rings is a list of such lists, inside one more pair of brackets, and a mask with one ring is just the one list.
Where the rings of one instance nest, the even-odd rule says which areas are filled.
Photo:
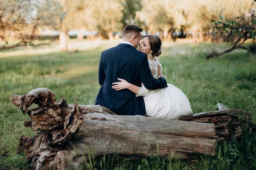
[[158, 35], [147, 34], [143, 38], [148, 37], [152, 57], [158, 57], [162, 53], [162, 40]]

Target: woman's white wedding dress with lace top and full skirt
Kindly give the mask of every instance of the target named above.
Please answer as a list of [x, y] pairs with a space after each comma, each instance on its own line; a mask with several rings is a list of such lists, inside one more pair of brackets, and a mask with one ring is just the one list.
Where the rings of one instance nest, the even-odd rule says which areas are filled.
[[[163, 67], [158, 59], [156, 61], [148, 60], [148, 63], [155, 79], [158, 78], [158, 68], [160, 68], [160, 75], [162, 75]], [[171, 120], [178, 120], [183, 116], [191, 116], [193, 112], [186, 95], [174, 85], [167, 85], [167, 88], [148, 90], [142, 84], [136, 96], [144, 96], [146, 116]]]

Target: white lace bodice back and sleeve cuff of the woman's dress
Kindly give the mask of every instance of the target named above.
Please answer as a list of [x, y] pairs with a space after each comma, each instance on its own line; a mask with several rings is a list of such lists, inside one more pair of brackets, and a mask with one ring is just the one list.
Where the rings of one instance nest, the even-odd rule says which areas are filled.
[[[162, 65], [160, 64], [159, 60], [156, 58], [156, 61], [148, 60], [148, 65], [151, 70], [152, 76], [157, 79], [162, 75]], [[158, 76], [158, 66], [160, 66], [160, 76]], [[150, 90], [145, 88], [143, 83], [141, 84], [140, 90], [138, 91], [138, 95], [136, 96], [147, 96], [149, 94]]]

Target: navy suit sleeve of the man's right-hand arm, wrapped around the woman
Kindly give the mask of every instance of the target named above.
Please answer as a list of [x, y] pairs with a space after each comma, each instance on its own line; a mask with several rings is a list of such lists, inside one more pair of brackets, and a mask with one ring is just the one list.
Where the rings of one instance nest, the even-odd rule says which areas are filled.
[[147, 55], [143, 57], [143, 60], [140, 65], [140, 79], [143, 82], [143, 85], [145, 86], [145, 88], [149, 90], [155, 90], [155, 89], [167, 87], [166, 79], [164, 79], [163, 77], [154, 79], [154, 77], [152, 76], [150, 68], [148, 66]]

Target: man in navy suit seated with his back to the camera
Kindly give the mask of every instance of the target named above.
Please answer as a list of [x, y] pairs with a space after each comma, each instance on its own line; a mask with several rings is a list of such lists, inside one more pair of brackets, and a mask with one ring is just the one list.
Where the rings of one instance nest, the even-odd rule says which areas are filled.
[[99, 62], [99, 94], [95, 105], [102, 105], [119, 115], [145, 115], [143, 96], [124, 89], [116, 91], [111, 88], [117, 78], [125, 79], [131, 84], [154, 90], [166, 88], [163, 77], [154, 79], [148, 66], [147, 55], [136, 50], [140, 44], [142, 28], [128, 25], [122, 31], [122, 41], [116, 47], [102, 52]]

